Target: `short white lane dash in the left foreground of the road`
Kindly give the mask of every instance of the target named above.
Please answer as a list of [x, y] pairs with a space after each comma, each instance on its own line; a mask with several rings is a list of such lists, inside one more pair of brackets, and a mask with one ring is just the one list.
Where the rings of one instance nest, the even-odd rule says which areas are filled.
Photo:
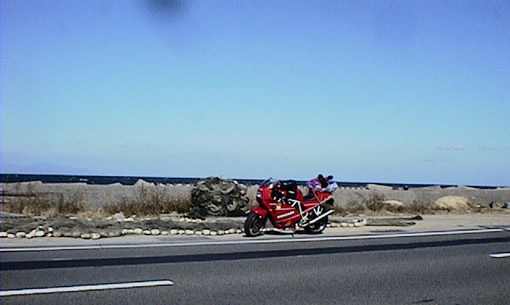
[[91, 290], [107, 290], [107, 289], [123, 289], [123, 288], [140, 288], [154, 286], [172, 286], [174, 283], [170, 280], [152, 281], [152, 282], [131, 282], [119, 284], [99, 284], [86, 286], [68, 286], [68, 287], [52, 287], [52, 288], [36, 288], [36, 289], [19, 289], [0, 291], [0, 297], [42, 294], [42, 293], [59, 293], [59, 292], [78, 292]]

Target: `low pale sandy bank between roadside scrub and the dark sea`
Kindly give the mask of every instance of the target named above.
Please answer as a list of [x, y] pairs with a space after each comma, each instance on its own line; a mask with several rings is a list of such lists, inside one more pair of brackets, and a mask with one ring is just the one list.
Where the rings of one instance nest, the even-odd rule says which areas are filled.
[[[135, 185], [91, 185], [86, 183], [1, 183], [2, 202], [6, 203], [23, 196], [47, 196], [79, 200], [86, 210], [97, 210], [106, 204], [118, 204], [125, 200], [136, 200], [147, 193], [158, 194], [165, 200], [190, 200], [192, 185], [189, 184], [153, 184], [139, 180]], [[300, 187], [307, 192], [305, 187]], [[250, 204], [254, 205], [257, 186], [249, 186], [247, 194]], [[377, 195], [384, 200], [398, 200], [406, 205], [413, 203], [432, 204], [444, 196], [458, 195], [472, 202], [487, 206], [490, 203], [510, 202], [510, 188], [477, 189], [470, 187], [423, 187], [408, 190], [370, 184], [366, 188], [340, 188], [334, 193], [335, 206], [347, 208], [359, 203], [363, 198]]]

